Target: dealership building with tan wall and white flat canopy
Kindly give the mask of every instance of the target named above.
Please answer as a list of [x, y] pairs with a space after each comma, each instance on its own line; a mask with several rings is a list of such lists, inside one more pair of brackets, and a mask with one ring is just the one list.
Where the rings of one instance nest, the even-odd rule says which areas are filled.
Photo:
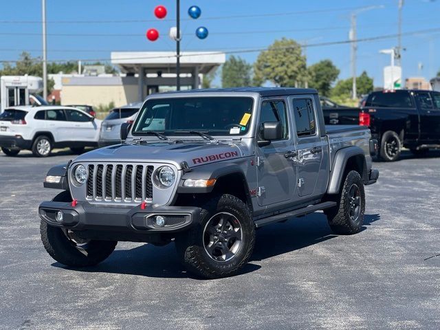
[[[204, 74], [225, 63], [225, 54], [182, 52], [180, 63], [181, 89], [197, 89]], [[175, 52], [112, 52], [111, 64], [120, 69], [120, 76], [62, 75], [61, 103], [96, 107], [113, 102], [120, 107], [176, 89]]]

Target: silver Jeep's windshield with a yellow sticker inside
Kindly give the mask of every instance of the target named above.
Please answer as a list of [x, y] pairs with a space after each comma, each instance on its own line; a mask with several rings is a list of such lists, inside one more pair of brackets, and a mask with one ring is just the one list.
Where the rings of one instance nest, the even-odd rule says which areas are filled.
[[137, 116], [133, 135], [146, 131], [243, 135], [250, 127], [252, 107], [253, 99], [249, 97], [152, 99]]

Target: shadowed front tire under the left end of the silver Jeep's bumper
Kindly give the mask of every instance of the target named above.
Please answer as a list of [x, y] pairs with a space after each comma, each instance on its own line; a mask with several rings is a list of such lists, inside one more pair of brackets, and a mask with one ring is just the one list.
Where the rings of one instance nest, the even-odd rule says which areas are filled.
[[61, 228], [48, 225], [41, 220], [41, 241], [44, 248], [53, 259], [63, 265], [72, 267], [87, 267], [97, 265], [115, 250], [115, 241], [89, 241], [87, 243], [87, 256], [78, 250], [74, 243], [67, 239]]

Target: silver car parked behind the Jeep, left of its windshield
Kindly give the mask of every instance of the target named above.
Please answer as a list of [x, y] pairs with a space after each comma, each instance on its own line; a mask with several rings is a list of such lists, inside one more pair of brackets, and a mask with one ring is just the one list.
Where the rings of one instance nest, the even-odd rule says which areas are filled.
[[124, 122], [133, 122], [142, 102], [127, 104], [124, 107], [112, 109], [102, 121], [99, 136], [99, 146], [111, 146], [121, 143], [120, 131]]

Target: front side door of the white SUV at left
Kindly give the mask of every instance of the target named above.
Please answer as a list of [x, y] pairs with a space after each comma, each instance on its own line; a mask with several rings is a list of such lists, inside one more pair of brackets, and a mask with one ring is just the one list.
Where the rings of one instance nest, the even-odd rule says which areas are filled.
[[98, 125], [93, 117], [79, 110], [65, 109], [70, 141], [96, 142]]

